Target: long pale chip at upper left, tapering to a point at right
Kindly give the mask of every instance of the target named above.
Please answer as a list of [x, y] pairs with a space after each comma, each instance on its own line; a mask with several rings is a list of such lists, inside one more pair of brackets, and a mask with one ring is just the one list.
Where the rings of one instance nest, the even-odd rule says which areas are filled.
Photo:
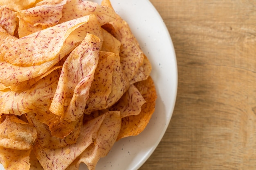
[[[88, 20], [89, 16], [82, 17], [4, 44], [0, 57], [3, 57], [4, 61], [8, 63], [22, 67], [52, 61], [59, 57], [58, 53], [70, 33]], [[54, 36], [57, 38], [55, 39]]]

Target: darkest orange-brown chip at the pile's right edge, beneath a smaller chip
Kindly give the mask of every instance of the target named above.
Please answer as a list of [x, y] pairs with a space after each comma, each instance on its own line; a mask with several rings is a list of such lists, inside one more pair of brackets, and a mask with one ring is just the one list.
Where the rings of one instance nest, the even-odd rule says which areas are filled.
[[117, 140], [128, 136], [139, 135], [146, 128], [155, 111], [157, 94], [152, 78], [149, 76], [145, 81], [135, 83], [135, 86], [146, 100], [146, 103], [142, 105], [141, 113], [138, 115], [122, 118], [121, 130]]

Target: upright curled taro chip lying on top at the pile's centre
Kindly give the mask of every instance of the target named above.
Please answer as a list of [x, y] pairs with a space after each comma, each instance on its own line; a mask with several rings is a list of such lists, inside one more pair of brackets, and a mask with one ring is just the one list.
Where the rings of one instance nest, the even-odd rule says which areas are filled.
[[[99, 60], [99, 42], [98, 37], [87, 34], [67, 57], [50, 107], [52, 113], [70, 121], [83, 115]], [[66, 110], [65, 103], [68, 105]]]

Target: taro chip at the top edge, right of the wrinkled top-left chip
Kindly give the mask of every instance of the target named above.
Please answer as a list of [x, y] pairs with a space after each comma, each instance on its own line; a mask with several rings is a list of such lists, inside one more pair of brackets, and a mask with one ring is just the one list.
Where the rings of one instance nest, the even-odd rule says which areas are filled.
[[60, 23], [85, 15], [94, 14], [101, 25], [115, 20], [115, 11], [87, 0], [67, 0], [62, 10]]

